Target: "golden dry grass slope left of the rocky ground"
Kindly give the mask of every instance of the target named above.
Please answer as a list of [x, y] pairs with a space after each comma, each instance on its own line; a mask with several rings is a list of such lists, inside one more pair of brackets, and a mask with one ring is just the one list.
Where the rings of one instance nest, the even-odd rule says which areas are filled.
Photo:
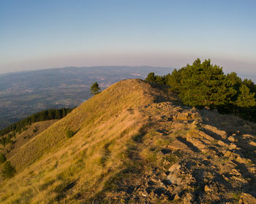
[[[18, 174], [1, 184], [1, 203], [79, 203], [97, 196], [124, 168], [131, 138], [149, 122], [141, 107], [164, 95], [135, 79], [95, 95], [10, 158]], [[67, 128], [78, 133], [67, 139]]]

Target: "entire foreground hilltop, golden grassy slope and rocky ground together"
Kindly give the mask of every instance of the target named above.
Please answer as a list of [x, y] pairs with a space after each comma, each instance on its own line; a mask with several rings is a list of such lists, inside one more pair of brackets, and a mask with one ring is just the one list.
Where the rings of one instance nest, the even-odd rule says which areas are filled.
[[127, 79], [13, 152], [0, 201], [255, 203], [255, 153], [255, 123]]

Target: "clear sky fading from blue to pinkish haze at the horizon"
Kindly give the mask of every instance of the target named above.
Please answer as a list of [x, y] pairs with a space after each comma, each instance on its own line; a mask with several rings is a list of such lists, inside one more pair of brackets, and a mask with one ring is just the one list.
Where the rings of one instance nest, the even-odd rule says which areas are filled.
[[256, 1], [0, 0], [0, 73], [195, 58], [256, 72]]

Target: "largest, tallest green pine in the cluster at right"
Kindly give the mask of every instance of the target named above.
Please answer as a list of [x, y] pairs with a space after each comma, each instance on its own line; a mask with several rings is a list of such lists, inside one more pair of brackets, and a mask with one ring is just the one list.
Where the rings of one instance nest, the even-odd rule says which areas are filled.
[[[176, 84], [181, 100], [189, 106], [219, 106], [228, 103], [236, 92], [225, 86], [222, 68], [212, 65], [211, 60], [195, 60], [192, 66], [181, 68], [180, 82]], [[177, 73], [176, 73], [177, 74]]]

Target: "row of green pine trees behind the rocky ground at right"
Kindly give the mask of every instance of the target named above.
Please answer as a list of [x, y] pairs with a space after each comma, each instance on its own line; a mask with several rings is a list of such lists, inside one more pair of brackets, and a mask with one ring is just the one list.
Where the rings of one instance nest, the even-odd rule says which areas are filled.
[[222, 67], [211, 64], [210, 59], [197, 59], [165, 76], [151, 72], [146, 81], [169, 86], [184, 105], [208, 106], [256, 122], [256, 85], [251, 79], [242, 80], [236, 72], [224, 74]]

